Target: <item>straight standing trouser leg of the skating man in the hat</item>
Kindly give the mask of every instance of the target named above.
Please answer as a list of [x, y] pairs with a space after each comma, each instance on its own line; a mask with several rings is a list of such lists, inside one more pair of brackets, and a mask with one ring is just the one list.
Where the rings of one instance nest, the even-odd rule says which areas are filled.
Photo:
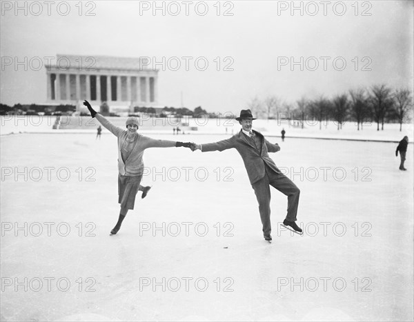
[[259, 203], [260, 219], [263, 225], [263, 234], [270, 235], [272, 228], [270, 225], [270, 188], [268, 177], [265, 174], [262, 179], [253, 183], [257, 202]]

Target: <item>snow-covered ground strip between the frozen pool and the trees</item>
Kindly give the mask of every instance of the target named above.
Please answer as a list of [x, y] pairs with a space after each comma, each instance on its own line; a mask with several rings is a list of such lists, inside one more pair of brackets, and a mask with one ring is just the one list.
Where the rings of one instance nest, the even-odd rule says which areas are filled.
[[[125, 125], [126, 117], [108, 117], [112, 123], [122, 128]], [[28, 132], [28, 133], [95, 133], [99, 122], [90, 117], [66, 117], [60, 119], [59, 130], [52, 130], [56, 117], [53, 116], [0, 116], [1, 134]], [[208, 119], [199, 117], [190, 119], [182, 117], [180, 119], [156, 119], [151, 117], [140, 118], [141, 133], [152, 134], [172, 134], [172, 129], [180, 129], [186, 134], [223, 134], [230, 135], [239, 131], [240, 125], [234, 119]], [[352, 139], [369, 141], [400, 141], [405, 135], [410, 142], [414, 141], [413, 123], [404, 123], [402, 131], [400, 124], [386, 123], [384, 130], [377, 131], [377, 124], [364, 122], [357, 130], [355, 122], [346, 122], [341, 130], [337, 130], [337, 124], [333, 121], [317, 121], [306, 119], [304, 128], [299, 127], [299, 121], [288, 121], [284, 118], [275, 120], [255, 120], [255, 129], [273, 137], [280, 137], [282, 129], [286, 131], [286, 137], [301, 138], [322, 138], [322, 139]], [[110, 134], [103, 128], [103, 134]], [[182, 133], [182, 132], [180, 132]], [[111, 134], [112, 135], [112, 134]]]

